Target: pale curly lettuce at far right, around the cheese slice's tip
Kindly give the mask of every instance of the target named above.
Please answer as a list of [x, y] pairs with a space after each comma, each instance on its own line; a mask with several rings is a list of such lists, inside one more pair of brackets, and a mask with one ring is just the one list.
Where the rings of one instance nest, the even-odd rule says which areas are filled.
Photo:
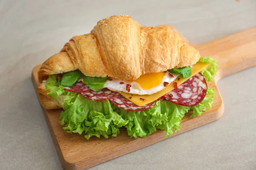
[[199, 59], [199, 62], [207, 62], [207, 63], [211, 63], [207, 68], [205, 68], [203, 71], [201, 71], [201, 73], [204, 75], [206, 81], [213, 81], [213, 76], [217, 75], [217, 60], [216, 59], [212, 59], [211, 57], [201, 57]]

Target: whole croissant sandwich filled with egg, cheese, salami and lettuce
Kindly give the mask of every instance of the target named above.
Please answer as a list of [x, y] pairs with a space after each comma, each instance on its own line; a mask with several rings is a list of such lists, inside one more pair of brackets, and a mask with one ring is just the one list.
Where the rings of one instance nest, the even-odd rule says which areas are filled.
[[169, 26], [140, 26], [129, 16], [100, 20], [89, 34], [75, 36], [38, 71], [38, 96], [45, 109], [64, 110], [68, 133], [166, 137], [211, 108], [216, 60], [201, 57]]

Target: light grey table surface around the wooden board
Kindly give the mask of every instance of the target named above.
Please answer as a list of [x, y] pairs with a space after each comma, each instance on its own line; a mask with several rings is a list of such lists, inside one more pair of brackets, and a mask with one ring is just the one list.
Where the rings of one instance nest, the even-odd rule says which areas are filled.
[[[96, 22], [128, 14], [204, 43], [256, 26], [256, 0], [1, 0], [0, 169], [61, 170], [31, 82], [32, 68]], [[256, 170], [256, 67], [223, 78], [218, 121], [90, 170]]]

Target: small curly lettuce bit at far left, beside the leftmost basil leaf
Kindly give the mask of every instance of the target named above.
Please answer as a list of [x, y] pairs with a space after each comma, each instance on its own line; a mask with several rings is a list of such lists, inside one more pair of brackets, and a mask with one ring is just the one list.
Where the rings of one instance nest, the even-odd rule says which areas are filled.
[[59, 86], [56, 81], [57, 75], [49, 75], [49, 78], [46, 81], [45, 89], [49, 92], [47, 93], [49, 96], [51, 96], [54, 99], [57, 99], [58, 96], [64, 94], [66, 91], [64, 91], [63, 86]]

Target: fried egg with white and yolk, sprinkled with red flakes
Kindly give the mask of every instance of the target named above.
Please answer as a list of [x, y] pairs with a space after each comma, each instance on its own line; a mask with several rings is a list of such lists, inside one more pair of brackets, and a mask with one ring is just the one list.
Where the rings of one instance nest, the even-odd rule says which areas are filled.
[[179, 74], [171, 74], [168, 71], [160, 73], [150, 73], [140, 76], [133, 81], [124, 81], [114, 78], [109, 78], [104, 85], [111, 91], [122, 91], [130, 94], [154, 94], [163, 90], [173, 82]]

